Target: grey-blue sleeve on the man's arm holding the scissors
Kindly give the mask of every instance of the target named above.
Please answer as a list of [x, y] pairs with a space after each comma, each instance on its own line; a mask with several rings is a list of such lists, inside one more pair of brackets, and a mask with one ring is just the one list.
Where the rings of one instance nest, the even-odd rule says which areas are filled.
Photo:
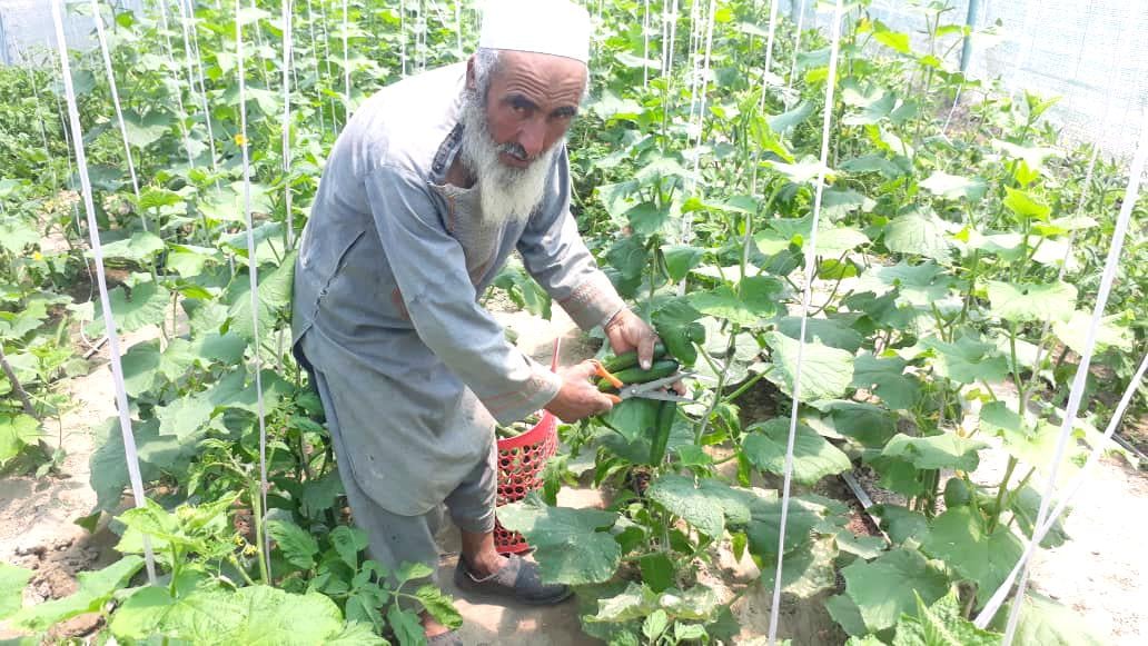
[[436, 217], [426, 182], [383, 166], [366, 177], [372, 217], [422, 342], [502, 423], [541, 410], [561, 379], [507, 343], [483, 310], [461, 244]]

